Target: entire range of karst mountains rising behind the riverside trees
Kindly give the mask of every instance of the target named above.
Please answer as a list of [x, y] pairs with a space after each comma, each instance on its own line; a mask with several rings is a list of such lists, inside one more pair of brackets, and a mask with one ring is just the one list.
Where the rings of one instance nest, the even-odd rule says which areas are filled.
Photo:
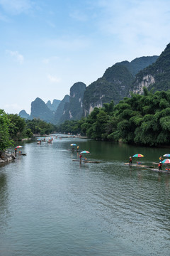
[[115, 104], [130, 97], [130, 92], [142, 94], [143, 87], [148, 90], [170, 89], [170, 43], [160, 56], [135, 58], [115, 63], [108, 68], [101, 78], [91, 85], [76, 82], [70, 88], [69, 95], [63, 100], [50, 100], [45, 104], [40, 98], [31, 103], [30, 115], [22, 110], [19, 115], [26, 119], [40, 118], [53, 124], [61, 124], [65, 120], [80, 119], [103, 103]]

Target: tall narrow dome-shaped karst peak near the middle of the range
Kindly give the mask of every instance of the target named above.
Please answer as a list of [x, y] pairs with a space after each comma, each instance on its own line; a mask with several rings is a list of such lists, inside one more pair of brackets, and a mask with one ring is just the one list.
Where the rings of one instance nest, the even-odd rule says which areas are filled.
[[69, 102], [64, 105], [64, 110], [60, 122], [70, 119], [80, 119], [83, 114], [83, 98], [86, 85], [84, 82], [76, 82], [70, 88]]

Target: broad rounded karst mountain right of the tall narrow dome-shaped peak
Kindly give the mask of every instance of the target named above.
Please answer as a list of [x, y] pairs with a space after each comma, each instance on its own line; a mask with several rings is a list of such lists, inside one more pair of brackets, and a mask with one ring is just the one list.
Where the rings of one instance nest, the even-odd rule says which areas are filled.
[[123, 65], [113, 65], [108, 68], [102, 78], [92, 82], [84, 92], [84, 116], [94, 110], [94, 107], [102, 107], [103, 103], [114, 100], [115, 104], [126, 96], [133, 76], [128, 68]]

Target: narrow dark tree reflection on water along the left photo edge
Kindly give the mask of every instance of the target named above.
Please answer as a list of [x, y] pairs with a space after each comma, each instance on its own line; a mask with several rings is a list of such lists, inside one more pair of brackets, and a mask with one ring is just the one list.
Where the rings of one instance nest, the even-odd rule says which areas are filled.
[[7, 209], [7, 183], [6, 183], [6, 175], [0, 174], [0, 234], [2, 230], [6, 227], [6, 217], [8, 216]]

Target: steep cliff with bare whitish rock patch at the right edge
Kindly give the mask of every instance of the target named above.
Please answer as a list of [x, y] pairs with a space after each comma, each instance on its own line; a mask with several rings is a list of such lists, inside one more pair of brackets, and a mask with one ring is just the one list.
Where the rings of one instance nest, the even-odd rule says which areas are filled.
[[155, 63], [137, 73], [131, 90], [142, 94], [144, 86], [154, 91], [170, 89], [170, 43]]

